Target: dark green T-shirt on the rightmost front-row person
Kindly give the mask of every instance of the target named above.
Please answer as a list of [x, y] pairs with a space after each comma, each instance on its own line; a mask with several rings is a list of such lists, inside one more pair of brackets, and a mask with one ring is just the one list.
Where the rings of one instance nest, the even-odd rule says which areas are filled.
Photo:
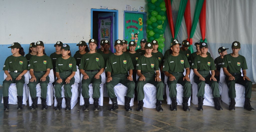
[[233, 57], [231, 54], [227, 54], [223, 58], [223, 63], [222, 67], [227, 68], [229, 73], [241, 73], [241, 68], [242, 70], [246, 70], [247, 68], [247, 63], [246, 59], [242, 55], [238, 55], [238, 57]]

